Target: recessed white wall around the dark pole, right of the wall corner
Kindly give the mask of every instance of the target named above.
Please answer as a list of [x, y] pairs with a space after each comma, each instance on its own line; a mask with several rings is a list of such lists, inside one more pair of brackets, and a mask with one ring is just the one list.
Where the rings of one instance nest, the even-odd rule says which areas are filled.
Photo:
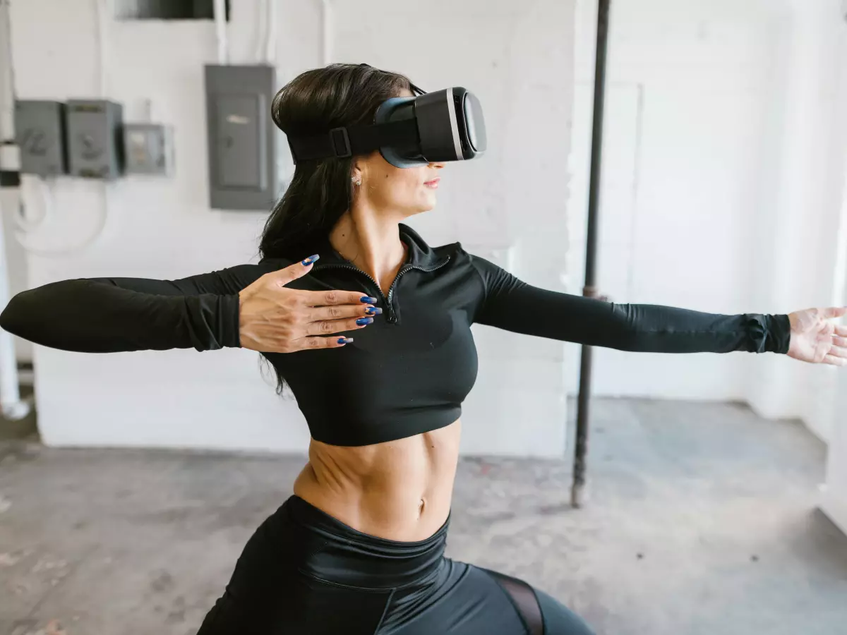
[[[612, 300], [732, 313], [839, 301], [834, 229], [847, 105], [839, 4], [612, 3], [599, 259], [599, 286]], [[595, 20], [596, 0], [579, 2], [574, 293], [584, 275]], [[768, 417], [804, 417], [826, 435], [831, 369], [741, 353], [595, 356], [598, 395], [750, 400]], [[578, 363], [573, 351], [572, 390]]]

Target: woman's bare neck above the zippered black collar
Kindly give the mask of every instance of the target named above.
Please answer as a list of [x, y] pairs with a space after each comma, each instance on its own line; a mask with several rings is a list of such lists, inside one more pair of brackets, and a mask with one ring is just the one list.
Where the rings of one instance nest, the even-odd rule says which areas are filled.
[[329, 232], [329, 242], [342, 257], [387, 289], [406, 260], [399, 221], [389, 214], [354, 207]]

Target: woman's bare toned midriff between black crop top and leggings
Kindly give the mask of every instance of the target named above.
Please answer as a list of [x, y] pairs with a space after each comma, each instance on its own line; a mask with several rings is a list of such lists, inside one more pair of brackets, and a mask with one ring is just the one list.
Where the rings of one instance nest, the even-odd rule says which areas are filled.
[[462, 422], [374, 445], [312, 440], [294, 493], [340, 522], [379, 538], [429, 538], [450, 514]]

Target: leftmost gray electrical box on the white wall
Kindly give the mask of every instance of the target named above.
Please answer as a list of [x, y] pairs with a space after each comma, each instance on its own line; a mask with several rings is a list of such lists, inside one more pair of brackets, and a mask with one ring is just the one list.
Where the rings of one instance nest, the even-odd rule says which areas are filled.
[[23, 100], [14, 104], [15, 141], [23, 174], [57, 176], [68, 171], [64, 103]]

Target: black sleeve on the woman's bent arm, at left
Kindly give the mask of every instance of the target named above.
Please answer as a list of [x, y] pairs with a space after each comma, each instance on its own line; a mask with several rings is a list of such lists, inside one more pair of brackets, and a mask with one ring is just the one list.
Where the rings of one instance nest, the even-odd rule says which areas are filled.
[[15, 295], [0, 327], [64, 351], [237, 347], [238, 292], [268, 270], [239, 265], [178, 280], [63, 280]]

